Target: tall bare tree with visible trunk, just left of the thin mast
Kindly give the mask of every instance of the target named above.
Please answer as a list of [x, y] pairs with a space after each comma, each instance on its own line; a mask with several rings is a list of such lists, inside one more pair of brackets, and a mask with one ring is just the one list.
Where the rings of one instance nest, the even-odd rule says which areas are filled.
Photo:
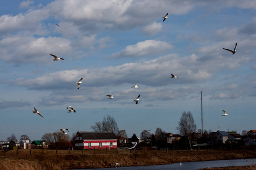
[[189, 147], [192, 150], [191, 134], [196, 131], [196, 124], [195, 124], [195, 121], [194, 121], [194, 118], [193, 118], [193, 115], [191, 112], [186, 113], [184, 111], [182, 113], [176, 130], [179, 130], [179, 133], [181, 135], [184, 135], [185, 137], [187, 137]]

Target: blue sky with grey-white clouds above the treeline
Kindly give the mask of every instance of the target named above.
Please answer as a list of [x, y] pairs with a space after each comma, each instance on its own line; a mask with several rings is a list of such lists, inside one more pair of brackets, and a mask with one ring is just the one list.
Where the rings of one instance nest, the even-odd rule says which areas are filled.
[[184, 111], [201, 129], [201, 101], [204, 130], [255, 129], [255, 14], [254, 0], [0, 1], [0, 141], [108, 115], [128, 137], [178, 134]]

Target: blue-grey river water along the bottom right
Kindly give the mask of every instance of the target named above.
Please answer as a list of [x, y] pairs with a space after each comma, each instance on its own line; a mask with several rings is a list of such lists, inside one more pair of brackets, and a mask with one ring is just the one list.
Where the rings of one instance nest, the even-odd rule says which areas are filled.
[[[145, 169], [145, 170], [169, 170], [169, 169], [182, 169], [182, 170], [192, 170], [200, 168], [213, 168], [213, 167], [229, 167], [229, 166], [245, 166], [245, 165], [255, 165], [256, 159], [230, 159], [230, 160], [212, 160], [203, 162], [184, 162], [182, 165], [180, 163], [167, 164], [167, 165], [148, 165], [148, 166], [137, 166], [137, 167], [118, 167], [119, 169]], [[114, 165], [113, 165], [114, 166]], [[92, 170], [110, 170], [116, 168], [94, 168]], [[74, 170], [74, 169], [73, 169]], [[81, 169], [75, 169], [81, 170]], [[88, 170], [88, 169], [86, 169]]]

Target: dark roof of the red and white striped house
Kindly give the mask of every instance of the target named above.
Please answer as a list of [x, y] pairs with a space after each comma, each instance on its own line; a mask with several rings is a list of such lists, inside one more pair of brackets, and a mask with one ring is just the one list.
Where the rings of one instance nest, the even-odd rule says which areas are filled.
[[78, 132], [82, 139], [117, 139], [113, 132]]

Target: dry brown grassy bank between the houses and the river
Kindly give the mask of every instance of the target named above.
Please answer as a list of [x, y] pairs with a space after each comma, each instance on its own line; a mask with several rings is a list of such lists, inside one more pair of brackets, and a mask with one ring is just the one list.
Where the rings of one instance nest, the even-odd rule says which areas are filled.
[[106, 168], [114, 163], [122, 166], [171, 164], [175, 162], [193, 162], [223, 159], [256, 158], [255, 151], [249, 150], [200, 150], [200, 151], [136, 151], [119, 150], [18, 150], [0, 152], [0, 167], [2, 169], [72, 169], [72, 168]]

